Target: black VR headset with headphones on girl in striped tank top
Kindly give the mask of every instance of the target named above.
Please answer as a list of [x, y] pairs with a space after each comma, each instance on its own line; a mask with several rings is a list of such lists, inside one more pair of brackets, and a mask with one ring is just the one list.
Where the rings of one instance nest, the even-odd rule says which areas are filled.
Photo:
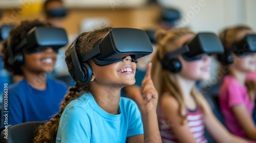
[[187, 61], [200, 60], [202, 57], [196, 57], [200, 54], [221, 54], [224, 52], [223, 45], [214, 33], [198, 33], [195, 38], [185, 43], [181, 49], [167, 53], [161, 60], [163, 69], [178, 73], [181, 70], [181, 63], [177, 56]]

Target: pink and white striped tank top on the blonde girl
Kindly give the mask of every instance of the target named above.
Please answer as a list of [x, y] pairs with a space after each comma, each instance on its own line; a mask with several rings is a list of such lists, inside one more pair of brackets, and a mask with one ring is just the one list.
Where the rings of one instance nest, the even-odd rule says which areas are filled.
[[[194, 111], [190, 111], [186, 108], [186, 114], [187, 125], [190, 128], [190, 132], [193, 133], [196, 141], [200, 143], [208, 142], [204, 137], [204, 122], [200, 107], [198, 106]], [[171, 125], [169, 121], [166, 120], [159, 108], [159, 129], [164, 143], [179, 142], [172, 131], [172, 126], [174, 125]]]

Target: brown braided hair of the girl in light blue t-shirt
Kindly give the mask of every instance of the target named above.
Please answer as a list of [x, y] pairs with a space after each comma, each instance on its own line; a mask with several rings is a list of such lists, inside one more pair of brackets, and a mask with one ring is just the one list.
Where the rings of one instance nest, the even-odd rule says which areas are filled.
[[[112, 29], [111, 26], [103, 27], [96, 29], [91, 32], [84, 33], [79, 37], [76, 42], [76, 52], [78, 58], [81, 57], [84, 53], [87, 53], [89, 50], [93, 48], [94, 43], [102, 38], [106, 33], [108, 33]], [[73, 46], [74, 42], [68, 47], [66, 51], [66, 63], [68, 65], [68, 69], [74, 67], [71, 59], [70, 48]], [[88, 64], [92, 62], [92, 60], [86, 61]], [[91, 64], [90, 64], [91, 65]], [[66, 106], [72, 101], [77, 99], [80, 96], [81, 91], [91, 92], [90, 82], [82, 83], [77, 80], [76, 76], [73, 76], [76, 84], [74, 87], [69, 88], [68, 94], [64, 97], [64, 100], [61, 102], [61, 106], [59, 108], [59, 113], [55, 114], [53, 118], [45, 125], [39, 126], [37, 136], [34, 138], [34, 142], [55, 142], [56, 135], [58, 131], [60, 116]]]

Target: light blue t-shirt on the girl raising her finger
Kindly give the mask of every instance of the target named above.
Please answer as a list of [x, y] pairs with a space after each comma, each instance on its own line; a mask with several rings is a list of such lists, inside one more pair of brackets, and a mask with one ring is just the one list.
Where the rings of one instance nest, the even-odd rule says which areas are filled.
[[137, 104], [121, 97], [119, 114], [101, 109], [91, 93], [71, 101], [63, 111], [56, 142], [125, 142], [126, 137], [143, 134]]

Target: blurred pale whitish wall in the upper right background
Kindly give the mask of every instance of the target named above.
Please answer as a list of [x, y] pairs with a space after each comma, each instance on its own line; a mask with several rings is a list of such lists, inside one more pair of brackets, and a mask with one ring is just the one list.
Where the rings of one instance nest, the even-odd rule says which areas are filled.
[[161, 6], [182, 12], [181, 26], [195, 32], [218, 33], [228, 26], [246, 24], [256, 30], [254, 0], [158, 0]]

